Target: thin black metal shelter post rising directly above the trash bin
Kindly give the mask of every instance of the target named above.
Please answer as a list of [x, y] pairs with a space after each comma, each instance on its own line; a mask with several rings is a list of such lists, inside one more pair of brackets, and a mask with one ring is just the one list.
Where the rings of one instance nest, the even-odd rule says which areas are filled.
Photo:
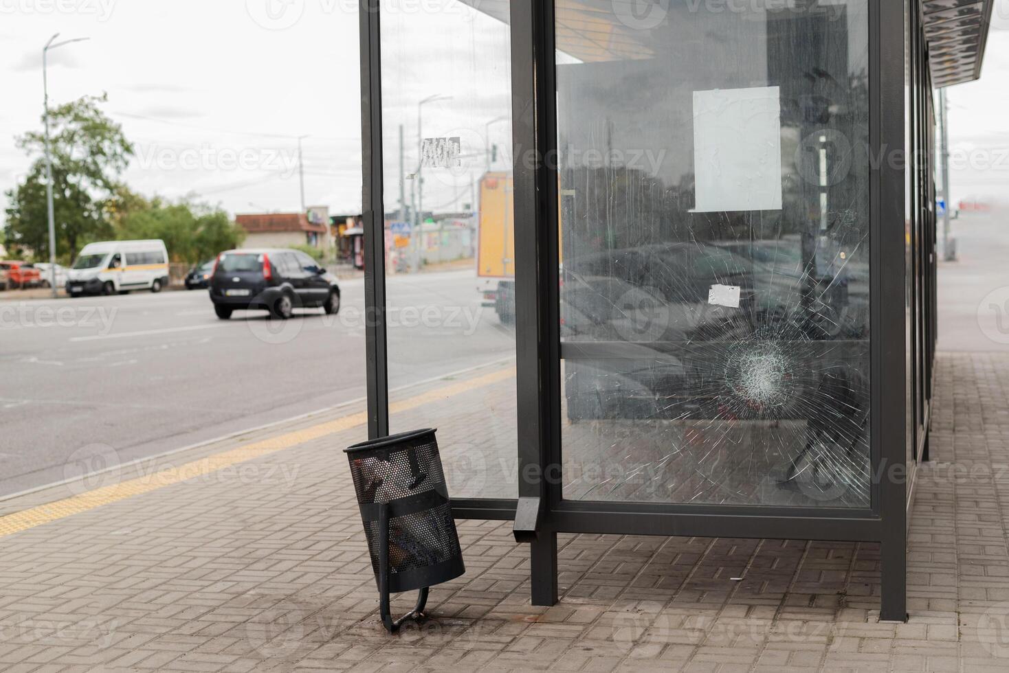
[[385, 210], [382, 200], [379, 0], [360, 0], [361, 159], [364, 228], [364, 353], [368, 437], [388, 434], [385, 349]]

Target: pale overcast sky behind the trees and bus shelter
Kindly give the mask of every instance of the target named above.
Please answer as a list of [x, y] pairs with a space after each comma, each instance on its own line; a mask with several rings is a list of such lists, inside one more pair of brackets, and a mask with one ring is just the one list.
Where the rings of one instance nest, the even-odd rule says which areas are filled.
[[[955, 200], [1009, 200], [1009, 0], [998, 1], [982, 80], [949, 90]], [[469, 20], [479, 39], [494, 31], [482, 15]], [[135, 190], [192, 193], [232, 214], [296, 211], [297, 138], [308, 136], [307, 206], [359, 212], [357, 21], [352, 0], [0, 0], [0, 191], [29, 164], [14, 136], [40, 128], [41, 46], [61, 32], [90, 40], [50, 53], [50, 102], [108, 92], [106, 112], [136, 144], [126, 174]], [[489, 39], [507, 50], [500, 35]], [[507, 89], [496, 95], [507, 72], [473, 71], [474, 82], [488, 77], [491, 107], [507, 114]], [[489, 128], [508, 143], [507, 124]], [[459, 180], [431, 188], [464, 193]]]

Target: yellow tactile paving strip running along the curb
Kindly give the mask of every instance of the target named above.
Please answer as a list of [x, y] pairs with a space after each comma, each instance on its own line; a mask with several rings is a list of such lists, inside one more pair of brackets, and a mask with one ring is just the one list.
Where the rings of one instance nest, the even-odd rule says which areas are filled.
[[[389, 411], [408, 411], [431, 402], [469, 393], [479, 388], [504, 381], [514, 377], [515, 374], [515, 368], [508, 368], [435, 388], [420, 395], [390, 403]], [[233, 448], [176, 467], [167, 467], [151, 475], [144, 475], [143, 477], [137, 477], [120, 484], [113, 484], [71, 498], [9, 514], [5, 517], [0, 517], [0, 537], [87, 512], [102, 505], [108, 505], [109, 503], [115, 503], [120, 500], [132, 498], [133, 496], [156, 491], [173, 484], [203, 477], [204, 475], [209, 475], [233, 464], [244, 462], [245, 460], [251, 460], [268, 453], [275, 453], [286, 448], [298, 446], [306, 441], [318, 439], [319, 437], [348, 430], [366, 423], [366, 413], [357, 412], [348, 414], [336, 420], [319, 423], [301, 430], [256, 441], [246, 446]]]

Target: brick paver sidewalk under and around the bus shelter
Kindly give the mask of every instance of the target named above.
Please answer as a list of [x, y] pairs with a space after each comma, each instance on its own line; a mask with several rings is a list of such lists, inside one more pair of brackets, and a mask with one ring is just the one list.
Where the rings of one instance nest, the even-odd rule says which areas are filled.
[[1009, 356], [943, 354], [936, 391], [906, 625], [875, 545], [563, 535], [541, 609], [511, 525], [464, 521], [466, 574], [389, 636], [345, 409], [0, 504], [0, 670], [1009, 670]]

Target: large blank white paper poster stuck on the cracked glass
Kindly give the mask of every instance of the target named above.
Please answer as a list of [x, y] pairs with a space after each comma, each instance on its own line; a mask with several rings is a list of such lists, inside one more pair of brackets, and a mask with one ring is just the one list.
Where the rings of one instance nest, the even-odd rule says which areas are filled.
[[781, 210], [778, 87], [694, 92], [697, 213]]

